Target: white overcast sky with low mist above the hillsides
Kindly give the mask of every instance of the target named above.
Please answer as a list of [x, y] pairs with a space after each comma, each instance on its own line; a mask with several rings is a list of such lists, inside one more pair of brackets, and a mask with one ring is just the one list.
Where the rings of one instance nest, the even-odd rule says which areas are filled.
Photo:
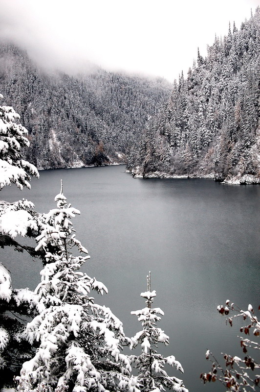
[[260, 0], [0, 0], [0, 37], [43, 66], [81, 72], [87, 60], [108, 70], [185, 75], [215, 33], [239, 28]]

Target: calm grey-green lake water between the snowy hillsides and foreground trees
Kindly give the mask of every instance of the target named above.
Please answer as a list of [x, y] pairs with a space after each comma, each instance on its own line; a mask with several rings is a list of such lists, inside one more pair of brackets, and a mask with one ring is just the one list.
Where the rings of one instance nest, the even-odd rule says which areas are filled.
[[[260, 187], [219, 185], [207, 179], [133, 179], [124, 166], [44, 171], [32, 180], [31, 191], [14, 186], [1, 198], [28, 198], [36, 210], [55, 207], [60, 191], [81, 216], [74, 219], [77, 238], [91, 259], [84, 270], [103, 281], [108, 295], [96, 301], [109, 306], [128, 336], [141, 329], [130, 311], [145, 306], [146, 275], [152, 271], [154, 306], [165, 312], [160, 327], [170, 345], [158, 351], [175, 355], [184, 368], [190, 392], [222, 391], [219, 384], [201, 384], [210, 364], [209, 348], [242, 355], [235, 325], [225, 325], [216, 311], [231, 299], [240, 307], [259, 303]], [[14, 287], [34, 289], [40, 262], [1, 250]], [[237, 324], [238, 325], [238, 324]]]

